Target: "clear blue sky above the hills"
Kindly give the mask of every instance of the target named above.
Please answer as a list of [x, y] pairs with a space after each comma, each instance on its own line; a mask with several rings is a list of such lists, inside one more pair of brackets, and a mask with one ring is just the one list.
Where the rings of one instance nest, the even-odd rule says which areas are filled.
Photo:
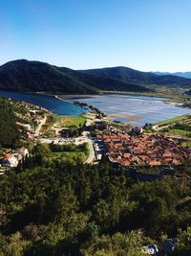
[[0, 0], [0, 64], [191, 71], [191, 0]]

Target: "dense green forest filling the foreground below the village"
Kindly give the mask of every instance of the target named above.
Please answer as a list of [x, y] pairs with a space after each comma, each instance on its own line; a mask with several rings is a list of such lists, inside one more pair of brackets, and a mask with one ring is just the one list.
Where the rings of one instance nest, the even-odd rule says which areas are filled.
[[0, 255], [141, 256], [166, 238], [177, 238], [174, 255], [190, 255], [189, 178], [140, 182], [104, 159], [73, 165], [47, 161], [46, 146], [34, 152], [0, 180]]

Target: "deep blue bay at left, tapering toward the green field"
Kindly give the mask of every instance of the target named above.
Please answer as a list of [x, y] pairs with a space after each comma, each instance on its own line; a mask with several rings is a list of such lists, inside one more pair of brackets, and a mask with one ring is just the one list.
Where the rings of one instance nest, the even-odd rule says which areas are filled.
[[49, 95], [0, 91], [0, 96], [23, 101], [32, 105], [39, 105], [53, 111], [53, 113], [58, 115], [79, 115], [87, 112], [87, 109], [85, 108], [74, 105], [73, 103], [60, 101]]

